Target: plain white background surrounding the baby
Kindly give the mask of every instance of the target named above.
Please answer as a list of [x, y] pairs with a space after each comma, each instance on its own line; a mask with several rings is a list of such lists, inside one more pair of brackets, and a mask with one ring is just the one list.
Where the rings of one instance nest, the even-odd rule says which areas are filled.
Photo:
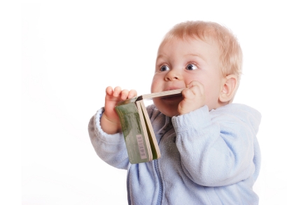
[[97, 157], [87, 124], [104, 105], [108, 85], [150, 92], [158, 45], [186, 20], [224, 24], [239, 38], [244, 75], [235, 102], [262, 113], [262, 167], [254, 189], [261, 205], [287, 204], [283, 5], [22, 1], [22, 204], [127, 204], [126, 171]]

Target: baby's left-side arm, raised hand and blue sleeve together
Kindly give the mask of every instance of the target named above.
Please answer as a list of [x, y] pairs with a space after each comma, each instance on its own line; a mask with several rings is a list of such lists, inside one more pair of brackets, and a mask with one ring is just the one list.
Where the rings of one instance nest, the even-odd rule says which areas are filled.
[[120, 133], [121, 127], [115, 106], [118, 101], [134, 97], [137, 95], [135, 90], [130, 92], [116, 87], [106, 88], [105, 108], [99, 109], [89, 123], [89, 135], [92, 146], [97, 155], [113, 167], [127, 169], [129, 159], [123, 134]]

